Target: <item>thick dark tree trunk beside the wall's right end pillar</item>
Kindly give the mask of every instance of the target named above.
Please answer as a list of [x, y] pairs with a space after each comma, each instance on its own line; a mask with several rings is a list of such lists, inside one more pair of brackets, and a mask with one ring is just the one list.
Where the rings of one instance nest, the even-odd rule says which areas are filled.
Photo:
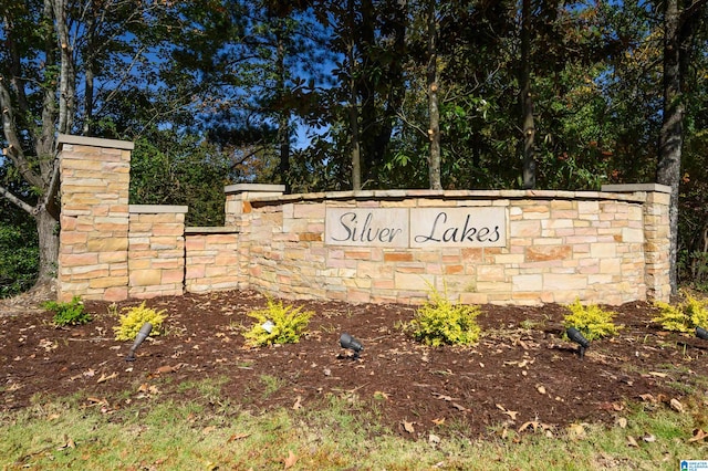
[[680, 14], [678, 0], [667, 0], [664, 11], [664, 113], [659, 133], [659, 160], [656, 181], [671, 188], [669, 202], [671, 294], [678, 290], [678, 184], [684, 144], [684, 103], [680, 76]]

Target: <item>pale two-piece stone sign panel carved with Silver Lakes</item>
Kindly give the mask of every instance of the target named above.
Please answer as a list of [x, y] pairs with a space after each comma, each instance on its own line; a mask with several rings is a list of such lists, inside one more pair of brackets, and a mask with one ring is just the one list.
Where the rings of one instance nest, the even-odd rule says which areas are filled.
[[329, 207], [324, 241], [391, 248], [506, 247], [507, 211], [501, 207]]

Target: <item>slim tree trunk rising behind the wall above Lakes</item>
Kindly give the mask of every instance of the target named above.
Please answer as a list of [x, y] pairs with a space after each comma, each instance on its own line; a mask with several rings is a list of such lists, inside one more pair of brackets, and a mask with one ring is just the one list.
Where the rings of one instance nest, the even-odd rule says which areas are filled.
[[430, 154], [428, 155], [428, 176], [430, 189], [440, 190], [440, 109], [438, 104], [438, 29], [435, 20], [435, 0], [428, 0], [428, 113]]

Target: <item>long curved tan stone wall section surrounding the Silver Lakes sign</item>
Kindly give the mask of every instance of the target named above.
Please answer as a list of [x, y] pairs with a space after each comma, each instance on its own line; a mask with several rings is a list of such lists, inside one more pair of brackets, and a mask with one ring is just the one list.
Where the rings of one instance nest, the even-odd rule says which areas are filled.
[[[372, 191], [258, 198], [243, 203], [248, 280], [283, 297], [420, 303], [431, 289], [471, 304], [621, 304], [666, 299], [662, 239], [667, 205], [647, 192]], [[657, 196], [659, 195], [659, 196]], [[656, 203], [658, 201], [658, 203]], [[382, 248], [325, 243], [327, 208], [501, 207], [508, 243], [489, 248]], [[648, 213], [648, 214], [647, 214]], [[652, 222], [649, 220], [648, 222]], [[648, 239], [645, 239], [647, 237]], [[648, 250], [647, 250], [648, 249]], [[653, 260], [647, 265], [645, 258]], [[647, 272], [647, 268], [650, 272]], [[652, 290], [647, 290], [647, 280]]]

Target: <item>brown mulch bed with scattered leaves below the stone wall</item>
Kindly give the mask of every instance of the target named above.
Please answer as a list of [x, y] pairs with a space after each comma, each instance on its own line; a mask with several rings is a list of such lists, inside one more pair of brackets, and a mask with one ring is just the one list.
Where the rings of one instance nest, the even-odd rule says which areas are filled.
[[[137, 304], [119, 303], [118, 313]], [[86, 302], [91, 323], [56, 328], [52, 313], [6, 301], [0, 408], [77, 395], [106, 414], [127, 402], [223, 398], [235, 414], [267, 414], [324, 407], [334, 395], [355, 410], [375, 411], [404, 437], [476, 438], [612, 423], [631, 402], [680, 408], [690, 400], [687, 391], [708, 394], [708, 342], [660, 331], [647, 303], [612, 307], [624, 328], [593, 342], [583, 359], [561, 338], [566, 308], [560, 305], [481, 306], [477, 346], [431, 348], [400, 329], [415, 307], [293, 301], [285, 304], [315, 313], [300, 343], [246, 348], [242, 329], [254, 322], [246, 313], [266, 304], [262, 295], [240, 291], [149, 300], [148, 306], [166, 310], [167, 333], [143, 343], [128, 363], [132, 343], [114, 339], [117, 317], [108, 303]], [[340, 346], [345, 332], [364, 345], [358, 359]], [[185, 387], [202, 378], [218, 380], [220, 398]]]

